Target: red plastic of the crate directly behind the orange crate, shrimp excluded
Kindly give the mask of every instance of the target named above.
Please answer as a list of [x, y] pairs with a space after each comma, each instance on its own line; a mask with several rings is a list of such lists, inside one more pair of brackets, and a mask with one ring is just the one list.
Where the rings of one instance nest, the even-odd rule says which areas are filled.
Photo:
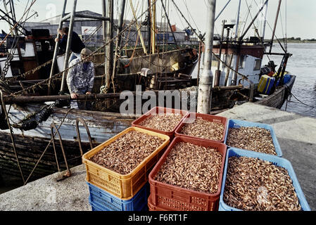
[[176, 113], [176, 114], [183, 115], [182, 120], [179, 122], [179, 124], [181, 124], [181, 122], [184, 120], [184, 118], [189, 114], [189, 112], [187, 112], [185, 110], [177, 110], [177, 109], [174, 109], [174, 108], [155, 107], [155, 108], [152, 108], [151, 110], [149, 110], [147, 113], [145, 113], [141, 117], [139, 117], [137, 120], [134, 120], [134, 122], [132, 122], [132, 126], [133, 127], [139, 127], [141, 129], [146, 129], [146, 130], [149, 130], [149, 131], [154, 131], [154, 132], [159, 133], [159, 134], [165, 134], [167, 136], [170, 136], [170, 140], [172, 140], [175, 137], [175, 129], [177, 129], [179, 124], [177, 124], [172, 129], [172, 131], [160, 131], [158, 129], [152, 129], [152, 128], [148, 128], [148, 127], [144, 127], [144, 126], [139, 125], [141, 122], [146, 120], [151, 115], [157, 115], [157, 114], [160, 114], [160, 113]]

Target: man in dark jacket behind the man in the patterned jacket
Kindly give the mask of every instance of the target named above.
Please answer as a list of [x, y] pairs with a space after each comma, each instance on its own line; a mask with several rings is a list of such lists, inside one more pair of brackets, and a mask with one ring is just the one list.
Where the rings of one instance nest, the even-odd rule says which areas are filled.
[[[68, 41], [68, 32], [69, 28], [68, 27], [63, 27], [63, 29], [58, 29], [57, 30], [59, 34], [61, 34], [61, 37], [58, 39], [58, 37], [55, 39], [55, 41], [59, 41], [59, 45], [61, 46], [62, 49], [66, 49], [67, 46], [67, 41]], [[78, 36], [76, 32], [72, 32], [72, 41], [71, 41], [71, 46], [70, 49], [72, 51], [68, 63], [70, 63], [72, 60], [75, 58], [80, 58], [80, 52], [82, 49], [84, 49], [85, 46]]]

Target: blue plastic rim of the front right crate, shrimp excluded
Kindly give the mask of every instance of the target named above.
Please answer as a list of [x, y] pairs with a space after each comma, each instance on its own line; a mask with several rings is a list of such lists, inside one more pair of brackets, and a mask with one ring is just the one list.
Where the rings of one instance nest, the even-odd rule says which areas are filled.
[[234, 207], [230, 207], [229, 205], [225, 204], [223, 198], [224, 198], [224, 191], [225, 191], [225, 183], [226, 183], [226, 177], [227, 177], [227, 168], [228, 168], [228, 160], [229, 158], [236, 156], [236, 157], [248, 157], [248, 158], [258, 158], [260, 160], [265, 160], [268, 162], [272, 162], [274, 165], [277, 165], [278, 167], [283, 167], [287, 169], [289, 172], [289, 176], [292, 179], [293, 182], [293, 187], [295, 188], [296, 195], [298, 196], [298, 200], [301, 204], [302, 210], [303, 211], [310, 211], [310, 207], [308, 205], [308, 202], [305, 198], [305, 195], [301, 189], [300, 184], [298, 183], [298, 179], [296, 178], [296, 174], [294, 172], [294, 169], [291, 165], [291, 162], [289, 160], [286, 160], [284, 158], [279, 158], [274, 155], [267, 155], [263, 153], [256, 153], [253, 151], [248, 151], [248, 150], [241, 150], [237, 148], [229, 148], [227, 150], [226, 154], [226, 160], [225, 160], [225, 168], [224, 168], [224, 174], [222, 178], [222, 190], [220, 191], [220, 206], [219, 206], [219, 211], [242, 211], [239, 209], [236, 209]]

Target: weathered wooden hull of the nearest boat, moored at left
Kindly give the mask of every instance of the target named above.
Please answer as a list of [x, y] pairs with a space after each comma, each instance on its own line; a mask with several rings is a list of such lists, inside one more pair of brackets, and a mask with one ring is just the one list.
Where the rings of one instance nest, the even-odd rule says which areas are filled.
[[[39, 110], [39, 108], [39, 105], [32, 105], [32, 107], [28, 106], [25, 110], [19, 108], [11, 109], [9, 116], [11, 120], [16, 122], [23, 119], [25, 115], [34, 112], [34, 110]], [[67, 112], [67, 109], [56, 109], [46, 122], [39, 124], [37, 129], [23, 132], [13, 129], [16, 153], [25, 180], [48, 145], [49, 147], [44, 153], [42, 160], [39, 161], [37, 168], [34, 169], [29, 181], [58, 171], [53, 143], [50, 143], [50, 125], [54, 122], [56, 127], [59, 127]], [[131, 127], [132, 121], [136, 118], [120, 115], [119, 113], [101, 113], [84, 110], [70, 111], [59, 130], [69, 167], [75, 167], [82, 163], [75, 126], [77, 117], [82, 117], [87, 122], [94, 147], [120, 133], [120, 131]], [[79, 130], [82, 139], [82, 150], [86, 153], [90, 149], [89, 139], [87, 131], [81, 122], [79, 123]], [[22, 179], [8, 130], [0, 131], [0, 140], [0, 176], [2, 176], [3, 181], [6, 181], [6, 185], [14, 185], [16, 181], [21, 182]], [[61, 169], [66, 169], [58, 135], [56, 135], [55, 143], [58, 164]]]

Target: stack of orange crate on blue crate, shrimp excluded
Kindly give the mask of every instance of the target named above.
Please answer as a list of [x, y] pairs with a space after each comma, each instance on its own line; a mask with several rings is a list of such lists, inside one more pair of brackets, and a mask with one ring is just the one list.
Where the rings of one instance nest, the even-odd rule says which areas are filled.
[[[130, 131], [138, 131], [151, 136], [158, 136], [164, 140], [156, 150], [148, 155], [129, 174], [118, 174], [106, 167], [102, 167], [90, 160], [104, 147]], [[87, 185], [89, 186], [89, 203], [94, 211], [144, 211], [147, 209], [149, 195], [148, 174], [160, 159], [166, 146], [170, 142], [169, 136], [153, 131], [129, 127], [100, 146], [90, 150], [82, 156], [87, 170]]]

